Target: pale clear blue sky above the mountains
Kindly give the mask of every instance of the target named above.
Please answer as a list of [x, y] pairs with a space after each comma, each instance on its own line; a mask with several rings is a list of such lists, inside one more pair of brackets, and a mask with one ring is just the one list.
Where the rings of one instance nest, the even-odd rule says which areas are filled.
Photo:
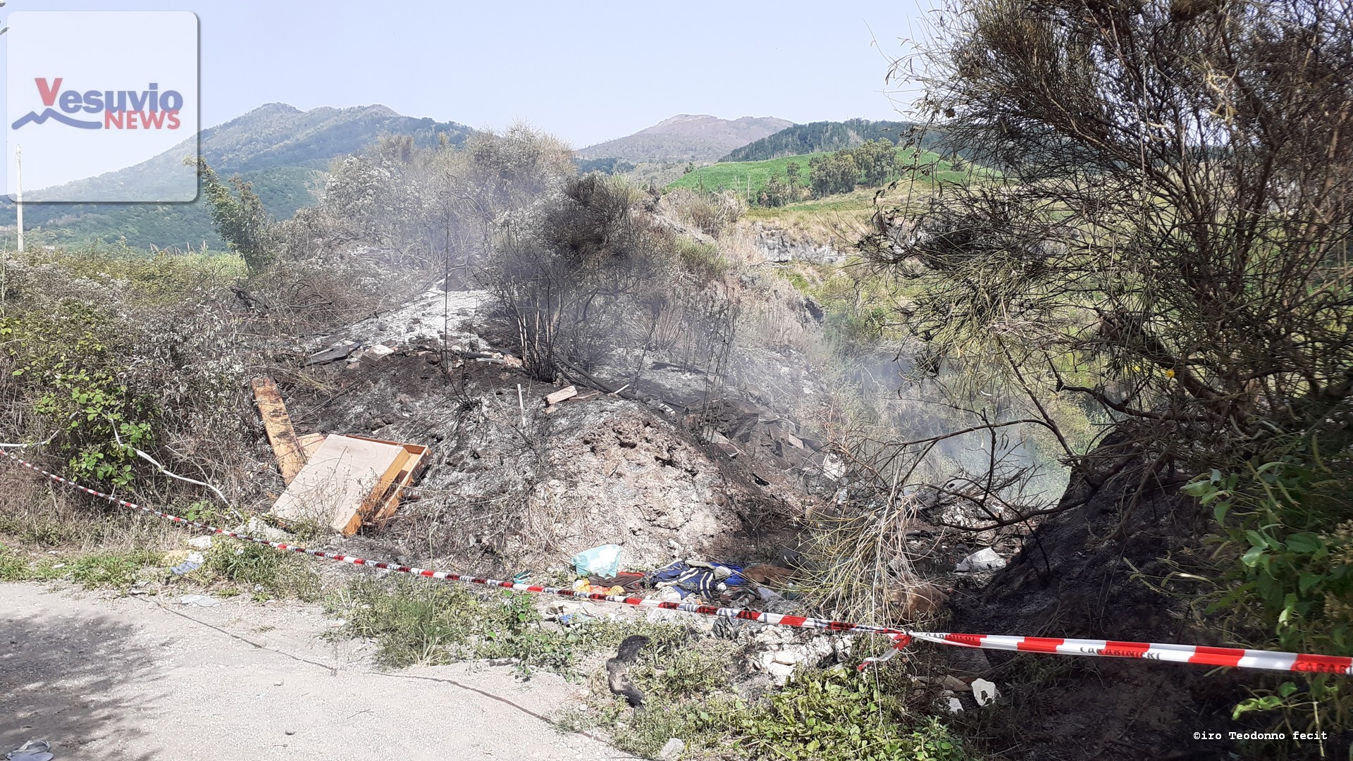
[[931, 1], [11, 0], [0, 18], [195, 11], [204, 127], [269, 102], [384, 103], [471, 127], [524, 119], [580, 148], [674, 114], [896, 118], [884, 54], [921, 34]]

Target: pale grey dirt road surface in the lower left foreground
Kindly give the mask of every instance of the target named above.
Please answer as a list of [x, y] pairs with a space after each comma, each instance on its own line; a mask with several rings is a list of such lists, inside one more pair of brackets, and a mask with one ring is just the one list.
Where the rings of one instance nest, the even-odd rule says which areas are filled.
[[632, 758], [547, 720], [578, 685], [510, 668], [382, 673], [313, 605], [0, 584], [0, 758]]

